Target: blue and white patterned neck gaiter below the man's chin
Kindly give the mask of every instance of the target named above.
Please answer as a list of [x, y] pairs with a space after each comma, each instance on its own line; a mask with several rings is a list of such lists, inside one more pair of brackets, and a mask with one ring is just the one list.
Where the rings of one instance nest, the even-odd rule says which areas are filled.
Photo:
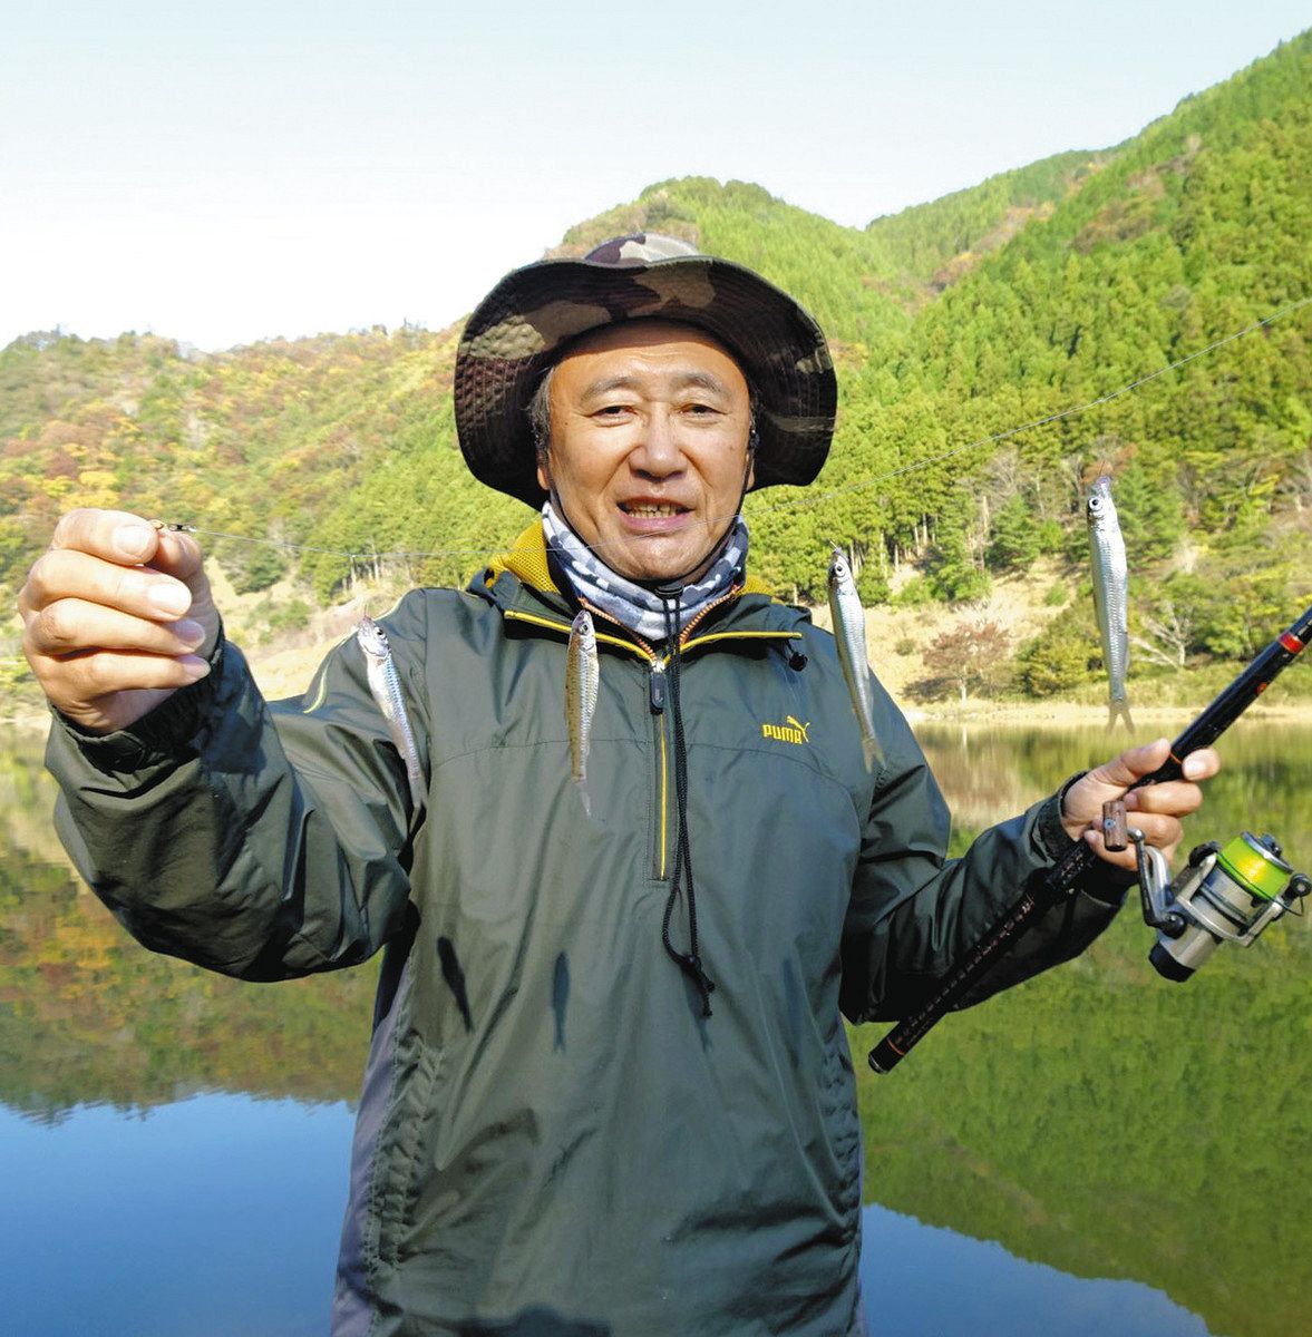
[[[542, 528], [551, 555], [580, 599], [600, 608], [643, 640], [665, 639], [667, 599], [611, 571], [556, 515], [550, 501], [542, 507]], [[706, 604], [741, 584], [746, 564], [748, 527], [742, 523], [742, 516], [738, 516], [710, 570], [701, 580], [685, 586], [679, 594], [679, 631]]]

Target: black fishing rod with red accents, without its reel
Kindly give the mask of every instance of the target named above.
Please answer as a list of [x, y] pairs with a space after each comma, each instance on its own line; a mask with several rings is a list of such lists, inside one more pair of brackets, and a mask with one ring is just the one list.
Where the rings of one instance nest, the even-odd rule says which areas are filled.
[[[1312, 634], [1312, 607], [1260, 651], [1252, 663], [1172, 742], [1166, 761], [1152, 774], [1137, 779], [1130, 789], [1180, 779], [1184, 774], [1185, 757], [1216, 742], [1271, 686], [1276, 675], [1295, 660], [1307, 644], [1309, 634]], [[1075, 884], [1097, 861], [1098, 856], [1093, 846], [1079, 841], [1046, 873], [1032, 877], [1024, 893], [1008, 905], [983, 937], [966, 952], [934, 997], [919, 1012], [904, 1017], [871, 1050], [871, 1067], [876, 1072], [891, 1072], [1046, 910], [1073, 894]]]

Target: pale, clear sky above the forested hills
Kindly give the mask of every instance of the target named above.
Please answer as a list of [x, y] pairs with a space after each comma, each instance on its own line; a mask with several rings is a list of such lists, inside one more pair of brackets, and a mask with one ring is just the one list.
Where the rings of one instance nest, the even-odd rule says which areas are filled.
[[43, 0], [0, 23], [0, 346], [440, 329], [653, 182], [840, 223], [1103, 148], [1307, 0]]

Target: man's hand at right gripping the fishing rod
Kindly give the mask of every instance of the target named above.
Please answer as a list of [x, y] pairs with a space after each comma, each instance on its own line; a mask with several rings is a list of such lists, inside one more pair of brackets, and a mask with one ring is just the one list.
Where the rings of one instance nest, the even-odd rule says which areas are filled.
[[1126, 793], [1134, 781], [1149, 775], [1170, 755], [1170, 739], [1158, 738], [1142, 747], [1130, 747], [1111, 761], [1081, 775], [1066, 790], [1062, 805], [1062, 825], [1071, 840], [1085, 840], [1093, 845], [1099, 858], [1134, 872], [1134, 846], [1118, 854], [1110, 853], [1102, 842], [1102, 805], [1125, 797], [1125, 814], [1130, 826], [1138, 826], [1149, 845], [1157, 845], [1168, 860], [1184, 836], [1180, 818], [1197, 812], [1202, 804], [1202, 790], [1194, 781], [1208, 779], [1221, 769], [1221, 759], [1210, 747], [1200, 747], [1184, 762], [1184, 779], [1169, 779], [1161, 785], [1145, 785]]

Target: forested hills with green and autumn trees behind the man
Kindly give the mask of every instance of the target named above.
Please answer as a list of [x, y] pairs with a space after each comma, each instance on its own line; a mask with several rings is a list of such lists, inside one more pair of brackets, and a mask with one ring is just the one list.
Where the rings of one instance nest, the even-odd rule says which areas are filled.
[[[552, 253], [673, 233], [758, 269], [825, 325], [843, 393], [831, 463], [805, 495], [749, 501], [757, 568], [785, 595], [821, 595], [829, 539], [868, 602], [963, 600], [1042, 554], [1075, 563], [1082, 488], [1109, 471], [1141, 578], [1138, 632], [1168, 656], [1240, 655], [1308, 590], [1312, 305], [1089, 412], [971, 444], [1312, 295], [1309, 87], [1312, 32], [1123, 144], [864, 229], [690, 178], [580, 223]], [[376, 328], [213, 356], [135, 334], [16, 341], [0, 353], [0, 580], [83, 503], [332, 550], [211, 541], [239, 587], [290, 571], [326, 600], [393, 550], [439, 551], [408, 559], [408, 579], [463, 580], [526, 512], [465, 475], [456, 337]], [[1075, 622], [1027, 651], [1035, 690], [1087, 670]]]

